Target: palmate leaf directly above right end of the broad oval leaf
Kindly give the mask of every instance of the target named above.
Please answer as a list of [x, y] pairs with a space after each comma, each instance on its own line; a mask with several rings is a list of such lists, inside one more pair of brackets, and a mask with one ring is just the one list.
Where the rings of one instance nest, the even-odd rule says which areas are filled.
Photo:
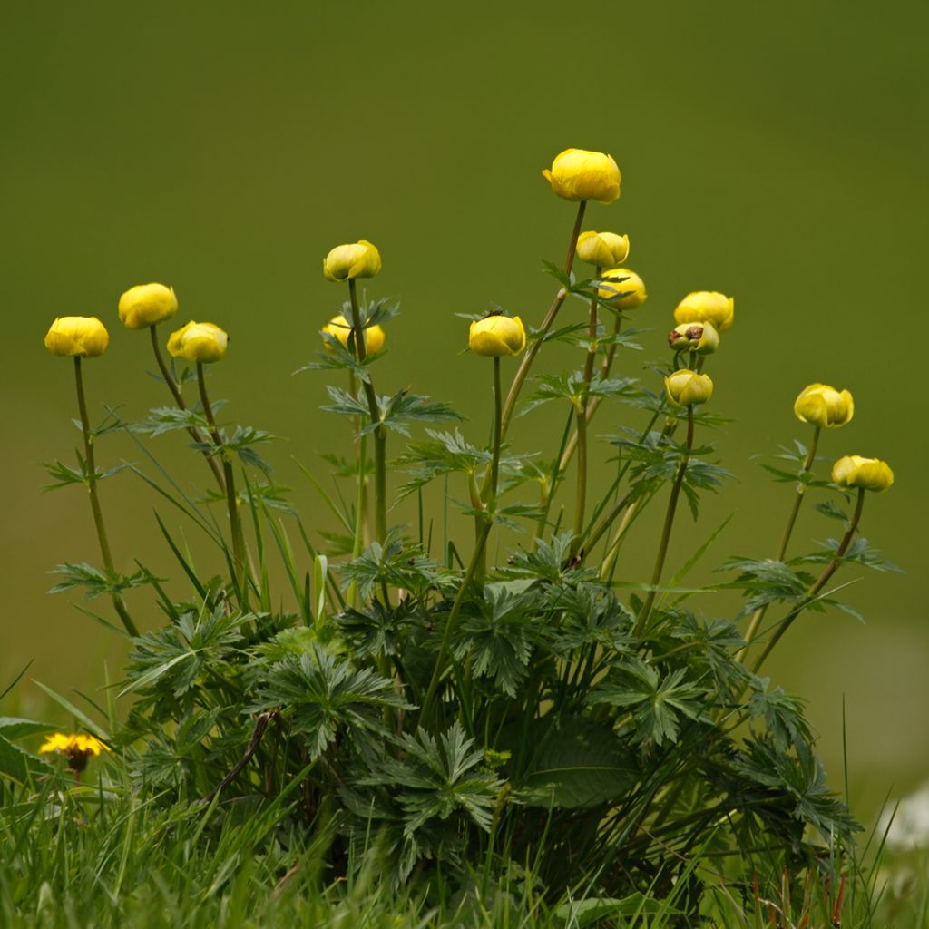
[[645, 661], [624, 658], [613, 665], [610, 679], [596, 687], [588, 703], [631, 709], [640, 742], [674, 743], [681, 716], [712, 722], [706, 713], [706, 687], [687, 681], [686, 675], [687, 668], [677, 668], [661, 679], [658, 669]]

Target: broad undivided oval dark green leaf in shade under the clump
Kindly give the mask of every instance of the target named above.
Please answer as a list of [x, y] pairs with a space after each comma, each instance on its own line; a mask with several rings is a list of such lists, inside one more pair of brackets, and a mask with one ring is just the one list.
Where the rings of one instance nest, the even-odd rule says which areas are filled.
[[582, 716], [550, 713], [504, 730], [498, 748], [512, 753], [507, 768], [522, 803], [546, 809], [585, 809], [619, 800], [638, 778], [635, 754], [608, 726]]

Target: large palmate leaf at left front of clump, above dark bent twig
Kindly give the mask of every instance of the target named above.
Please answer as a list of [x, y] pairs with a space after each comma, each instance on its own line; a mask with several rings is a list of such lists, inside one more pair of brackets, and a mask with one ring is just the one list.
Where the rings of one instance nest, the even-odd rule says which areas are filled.
[[385, 709], [412, 710], [393, 680], [370, 668], [359, 670], [351, 661], [331, 655], [313, 644], [312, 653], [290, 656], [263, 669], [257, 680], [258, 697], [248, 713], [280, 710], [295, 733], [307, 736], [307, 751], [316, 760], [340, 729], [354, 739], [385, 738]]

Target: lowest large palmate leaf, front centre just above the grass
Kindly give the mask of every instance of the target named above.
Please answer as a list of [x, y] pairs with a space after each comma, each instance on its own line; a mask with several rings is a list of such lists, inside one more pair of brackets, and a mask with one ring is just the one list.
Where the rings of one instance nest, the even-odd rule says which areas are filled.
[[369, 785], [386, 785], [404, 811], [407, 836], [429, 820], [463, 812], [479, 829], [490, 831], [493, 808], [504, 781], [484, 767], [484, 751], [455, 722], [438, 739], [424, 729], [394, 739], [400, 757], [384, 754]]

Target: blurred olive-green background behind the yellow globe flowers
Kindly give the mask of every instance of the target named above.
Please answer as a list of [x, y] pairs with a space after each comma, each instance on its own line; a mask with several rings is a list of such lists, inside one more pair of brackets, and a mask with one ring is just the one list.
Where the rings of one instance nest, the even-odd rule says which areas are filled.
[[[91, 404], [138, 418], [167, 398], [144, 374], [145, 335], [120, 326], [116, 303], [132, 284], [173, 284], [178, 321], [216, 321], [232, 336], [215, 396], [286, 437], [270, 452], [277, 478], [307, 523], [324, 524], [293, 459], [327, 479], [319, 454], [347, 451], [343, 424], [319, 412], [324, 373], [291, 376], [344, 295], [322, 279], [322, 255], [361, 237], [380, 247], [369, 291], [402, 299], [380, 389], [412, 383], [450, 400], [480, 441], [490, 372], [462, 354], [466, 323], [453, 314], [500, 304], [541, 320], [553, 289], [541, 258], [562, 260], [573, 206], [540, 171], [574, 146], [620, 164], [622, 199], [593, 204], [585, 225], [628, 232], [629, 267], [648, 284], [646, 350], [625, 353], [623, 373], [664, 358], [671, 309], [688, 291], [736, 297], [710, 370], [714, 409], [737, 419], [715, 439], [738, 481], [708, 501], [696, 530], [682, 518], [669, 566], [730, 514], [708, 568], [731, 553], [773, 554], [791, 490], [768, 483], [752, 455], [807, 438], [791, 408], [811, 381], [856, 399], [854, 422], [822, 453], [893, 465], [896, 487], [869, 500], [863, 530], [906, 575], [862, 576], [845, 593], [867, 624], [806, 616], [770, 671], [809, 698], [836, 787], [844, 701], [862, 816], [914, 787], [929, 762], [924, 376], [913, 351], [929, 208], [927, 27], [929, 7], [915, 0], [9, 7], [0, 690], [33, 664], [0, 711], [59, 719], [31, 678], [98, 698], [104, 662], [118, 678], [122, 661], [114, 637], [74, 608], [79, 597], [46, 595], [47, 569], [98, 562], [82, 493], [40, 493], [38, 463], [71, 461], [77, 441], [72, 366], [42, 347], [55, 316], [107, 323], [110, 351], [86, 366]], [[568, 363], [556, 351], [542, 368]], [[624, 408], [600, 417], [596, 433], [638, 422]], [[519, 449], [547, 448], [560, 422], [537, 412], [510, 435]], [[203, 486], [203, 464], [182, 446], [174, 435], [152, 448], [185, 487]], [[99, 455], [141, 460], [118, 437]], [[128, 473], [101, 492], [121, 566], [138, 557], [186, 593], [151, 514], [157, 505], [179, 528], [177, 515]], [[627, 546], [623, 577], [645, 573], [657, 522]], [[834, 530], [807, 507], [793, 550]], [[133, 603], [144, 625], [158, 622], [143, 598]], [[736, 604], [698, 606], [731, 615]]]

